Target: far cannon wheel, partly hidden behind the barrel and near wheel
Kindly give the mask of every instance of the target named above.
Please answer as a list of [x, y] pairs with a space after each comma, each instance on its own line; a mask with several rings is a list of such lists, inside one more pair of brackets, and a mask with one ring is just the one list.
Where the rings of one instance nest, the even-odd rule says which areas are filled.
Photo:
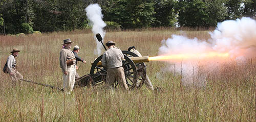
[[[122, 53], [128, 57], [138, 57], [137, 54], [130, 51], [122, 51]], [[136, 63], [135, 66], [137, 67], [137, 72], [140, 75], [138, 76], [138, 80], [137, 80], [138, 83], [136, 83], [136, 87], [140, 88], [143, 86], [146, 79], [146, 65], [145, 63], [142, 62], [142, 63]]]

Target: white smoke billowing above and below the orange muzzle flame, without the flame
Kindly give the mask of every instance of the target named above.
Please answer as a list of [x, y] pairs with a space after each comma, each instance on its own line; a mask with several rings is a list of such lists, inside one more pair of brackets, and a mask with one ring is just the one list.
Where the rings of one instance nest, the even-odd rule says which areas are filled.
[[[200, 40], [198, 38], [189, 39], [188, 37], [181, 35], [172, 35], [172, 38], [167, 40], [162, 40], [162, 46], [159, 48], [158, 55], [166, 56], [172, 54], [184, 54], [184, 53], [204, 53], [204, 52], [219, 52], [230, 54], [231, 58], [237, 60], [245, 60], [246, 58], [256, 57], [256, 21], [243, 17], [237, 20], [226, 20], [218, 23], [215, 31], [210, 32], [210, 39]], [[210, 67], [209, 69], [215, 69], [218, 66], [219, 60], [209, 60], [208, 62], [189, 61], [183, 60], [175, 63], [176, 71], [181, 72], [183, 70], [182, 76], [185, 78], [183, 81], [193, 81], [193, 76], [199, 75], [198, 64], [202, 64]], [[181, 64], [182, 62], [182, 64]], [[181, 67], [182, 65], [182, 67]], [[169, 67], [172, 70], [174, 65]], [[200, 74], [199, 79], [205, 81], [205, 75]]]

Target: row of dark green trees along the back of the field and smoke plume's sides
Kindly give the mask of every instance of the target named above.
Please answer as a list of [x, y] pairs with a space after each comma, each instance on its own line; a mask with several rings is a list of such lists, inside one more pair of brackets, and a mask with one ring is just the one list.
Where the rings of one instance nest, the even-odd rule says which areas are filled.
[[255, 0], [1, 0], [0, 33], [90, 28], [84, 9], [99, 4], [106, 29], [215, 27], [256, 16]]

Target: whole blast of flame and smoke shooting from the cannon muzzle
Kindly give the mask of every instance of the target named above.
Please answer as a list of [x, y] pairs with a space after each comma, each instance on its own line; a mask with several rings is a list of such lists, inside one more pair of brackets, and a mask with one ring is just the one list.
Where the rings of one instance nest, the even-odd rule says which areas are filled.
[[[189, 82], [192, 75], [199, 75], [199, 65], [214, 71], [222, 62], [255, 58], [255, 30], [256, 21], [243, 17], [218, 23], [216, 30], [209, 32], [208, 40], [172, 35], [172, 38], [161, 41], [158, 56], [149, 57], [149, 60], [169, 62], [170, 67], [165, 70], [182, 72], [183, 80]], [[205, 81], [206, 76], [200, 75], [200, 80]]]

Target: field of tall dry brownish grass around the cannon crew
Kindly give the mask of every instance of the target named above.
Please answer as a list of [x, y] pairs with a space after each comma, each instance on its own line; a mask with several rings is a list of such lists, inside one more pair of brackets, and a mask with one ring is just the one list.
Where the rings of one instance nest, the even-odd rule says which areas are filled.
[[[107, 32], [104, 39], [113, 40], [121, 50], [135, 45], [142, 55], [156, 56], [161, 40], [172, 34], [209, 38], [207, 31], [152, 29]], [[18, 71], [24, 79], [61, 87], [59, 52], [65, 38], [80, 46], [79, 56], [87, 62], [98, 57], [88, 30], [0, 36], [0, 66], [3, 68], [12, 48], [18, 48]], [[9, 76], [1, 71], [0, 121], [256, 121], [255, 59], [202, 70], [207, 75], [203, 87], [182, 85], [180, 74], [164, 70], [169, 65], [166, 62], [146, 64], [156, 90], [143, 86], [129, 92], [117, 89], [114, 94], [101, 87], [76, 88], [70, 95], [27, 82], [12, 87]], [[80, 76], [89, 74], [90, 63], [79, 62], [78, 66]], [[195, 76], [193, 83], [199, 81]]]

